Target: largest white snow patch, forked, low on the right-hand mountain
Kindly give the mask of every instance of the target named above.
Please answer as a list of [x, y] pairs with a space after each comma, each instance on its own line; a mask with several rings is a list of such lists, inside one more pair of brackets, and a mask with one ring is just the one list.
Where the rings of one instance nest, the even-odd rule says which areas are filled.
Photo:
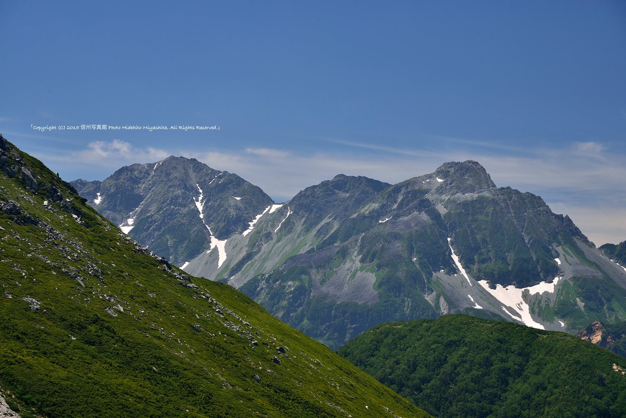
[[528, 305], [528, 303], [524, 301], [523, 293], [526, 290], [528, 291], [528, 293], [530, 293], [530, 295], [535, 295], [536, 293], [545, 293], [545, 292], [554, 293], [559, 280], [560, 278], [555, 277], [552, 283], [547, 283], [545, 281], [542, 281], [538, 285], [530, 286], [528, 288], [521, 288], [521, 289], [518, 289], [513, 285], [506, 286], [505, 288], [500, 284], [496, 285], [495, 289], [491, 289], [486, 280], [481, 280], [478, 283], [481, 286], [483, 286], [483, 288], [485, 288], [485, 290], [488, 291], [491, 294], [491, 296], [493, 296], [498, 301], [503, 303], [503, 305], [508, 306], [508, 308], [511, 308], [514, 311], [519, 311], [519, 316], [516, 316], [510, 313], [510, 311], [508, 311], [504, 306], [502, 306], [502, 310], [508, 313], [508, 315], [511, 316], [511, 318], [516, 319], [516, 320], [520, 320], [521, 318], [521, 321], [527, 327], [533, 327], [533, 328], [538, 328], [540, 330], [545, 330], [543, 325], [541, 325], [538, 322], [535, 322], [535, 320], [533, 320], [532, 316], [530, 315], [530, 306]]

